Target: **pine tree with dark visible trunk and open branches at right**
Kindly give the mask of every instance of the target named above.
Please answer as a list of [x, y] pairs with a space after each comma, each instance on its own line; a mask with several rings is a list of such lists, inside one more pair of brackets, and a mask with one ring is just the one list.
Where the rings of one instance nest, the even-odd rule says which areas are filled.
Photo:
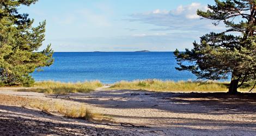
[[229, 79], [229, 93], [237, 94], [243, 83], [256, 80], [256, 1], [215, 0], [208, 11], [197, 11], [199, 16], [224, 22], [227, 30], [210, 33], [193, 43], [192, 50], [174, 52], [178, 70], [188, 70], [198, 78]]

